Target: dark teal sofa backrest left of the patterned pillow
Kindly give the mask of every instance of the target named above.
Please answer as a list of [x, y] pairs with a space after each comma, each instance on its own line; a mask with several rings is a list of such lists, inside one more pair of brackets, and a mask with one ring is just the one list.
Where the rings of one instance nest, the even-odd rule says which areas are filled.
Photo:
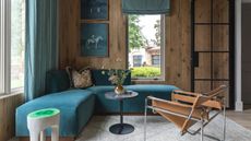
[[65, 70], [52, 70], [46, 73], [46, 94], [70, 89], [70, 79]]

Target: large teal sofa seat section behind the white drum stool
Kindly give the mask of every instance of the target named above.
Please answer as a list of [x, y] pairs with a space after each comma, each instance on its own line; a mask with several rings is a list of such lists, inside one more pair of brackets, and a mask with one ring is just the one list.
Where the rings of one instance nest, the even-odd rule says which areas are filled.
[[16, 136], [27, 137], [27, 115], [43, 108], [60, 110], [60, 136], [75, 137], [93, 115], [95, 96], [86, 90], [70, 90], [38, 97], [16, 108]]

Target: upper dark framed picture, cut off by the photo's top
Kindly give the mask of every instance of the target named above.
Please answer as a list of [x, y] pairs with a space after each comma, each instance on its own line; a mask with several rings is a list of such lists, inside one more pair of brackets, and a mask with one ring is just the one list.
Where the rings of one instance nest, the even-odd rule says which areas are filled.
[[108, 20], [108, 0], [81, 0], [82, 20]]

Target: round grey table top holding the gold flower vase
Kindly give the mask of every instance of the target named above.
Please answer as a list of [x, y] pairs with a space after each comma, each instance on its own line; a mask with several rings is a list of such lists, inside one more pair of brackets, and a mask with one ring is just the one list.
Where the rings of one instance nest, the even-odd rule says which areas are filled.
[[105, 93], [106, 98], [108, 99], [124, 99], [124, 98], [133, 98], [139, 95], [138, 92], [127, 91], [124, 94], [116, 94], [115, 92]]

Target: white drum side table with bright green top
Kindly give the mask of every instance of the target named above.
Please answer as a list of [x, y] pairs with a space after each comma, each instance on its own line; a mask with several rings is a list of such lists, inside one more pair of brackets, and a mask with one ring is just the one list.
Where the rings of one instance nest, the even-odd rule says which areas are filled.
[[[27, 127], [31, 141], [46, 141], [45, 129], [51, 128], [51, 141], [59, 141], [60, 110], [46, 108], [27, 115]], [[40, 134], [40, 137], [39, 137]]]

